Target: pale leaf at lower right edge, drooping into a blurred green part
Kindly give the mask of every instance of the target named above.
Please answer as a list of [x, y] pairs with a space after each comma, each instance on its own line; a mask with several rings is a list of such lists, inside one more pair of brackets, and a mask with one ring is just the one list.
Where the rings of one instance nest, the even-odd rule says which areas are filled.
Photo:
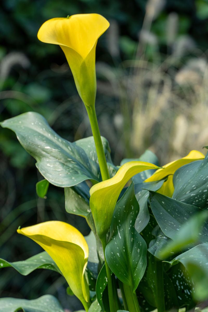
[[200, 244], [174, 258], [172, 265], [181, 262], [194, 284], [192, 295], [197, 301], [208, 299], [208, 243]]

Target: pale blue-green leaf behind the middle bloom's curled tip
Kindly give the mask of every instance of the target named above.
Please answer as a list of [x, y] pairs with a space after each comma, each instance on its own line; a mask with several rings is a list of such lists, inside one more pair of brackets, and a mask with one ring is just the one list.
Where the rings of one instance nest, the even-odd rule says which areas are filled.
[[[145, 161], [148, 163], [153, 163], [156, 166], [159, 166], [159, 161], [157, 156], [152, 153], [152, 151], [150, 151], [149, 149], [147, 149], [144, 154], [142, 154], [139, 158], [124, 158], [121, 161], [121, 166], [124, 163], [128, 163], [130, 161]], [[142, 183], [145, 179], [149, 178], [152, 176], [152, 174], [155, 172], [155, 169], [150, 169], [150, 170], [146, 170], [140, 173], [137, 173], [134, 177], [133, 177], [133, 183]]]

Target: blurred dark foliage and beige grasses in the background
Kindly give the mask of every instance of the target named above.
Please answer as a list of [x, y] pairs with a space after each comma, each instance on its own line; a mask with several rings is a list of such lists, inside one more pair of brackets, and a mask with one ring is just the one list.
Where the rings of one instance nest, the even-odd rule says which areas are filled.
[[[96, 54], [96, 109], [101, 133], [119, 165], [149, 148], [161, 164], [208, 144], [208, 0], [2, 0], [0, 2], [0, 120], [27, 111], [41, 113], [62, 137], [91, 135], [84, 105], [59, 46], [38, 41], [52, 17], [96, 12], [111, 26]], [[68, 215], [60, 188], [36, 196], [41, 180], [35, 161], [14, 133], [0, 131], [0, 257], [26, 259], [41, 251], [16, 234], [49, 219], [89, 233], [85, 220]], [[1, 271], [0, 296], [34, 299], [56, 295], [65, 308], [79, 309], [55, 272], [23, 277]]]

